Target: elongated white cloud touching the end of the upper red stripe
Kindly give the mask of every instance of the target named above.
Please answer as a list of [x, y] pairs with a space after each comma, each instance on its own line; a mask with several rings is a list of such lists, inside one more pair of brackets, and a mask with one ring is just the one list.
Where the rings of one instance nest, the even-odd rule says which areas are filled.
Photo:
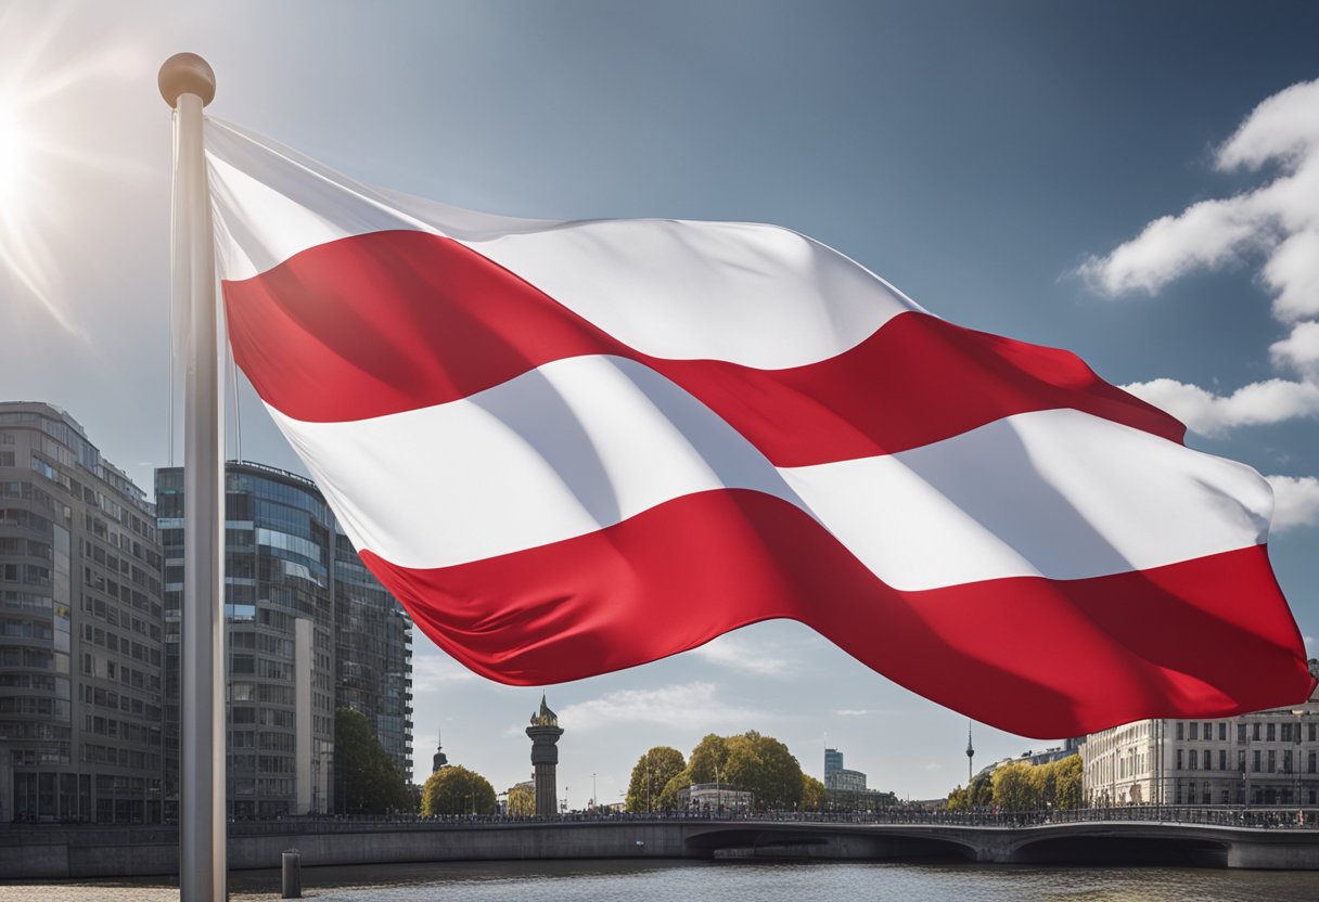
[[1124, 389], [1173, 414], [1202, 435], [1223, 435], [1237, 426], [1264, 426], [1319, 415], [1319, 385], [1270, 378], [1228, 396], [1173, 378], [1132, 382]]

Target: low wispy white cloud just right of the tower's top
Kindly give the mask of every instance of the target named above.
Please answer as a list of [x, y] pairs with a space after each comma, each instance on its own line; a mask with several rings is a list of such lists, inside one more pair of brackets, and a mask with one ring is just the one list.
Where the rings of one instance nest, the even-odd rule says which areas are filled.
[[741, 708], [715, 698], [714, 683], [695, 682], [654, 690], [620, 690], [599, 699], [570, 704], [559, 720], [574, 729], [617, 729], [628, 724], [663, 724], [679, 729], [735, 729], [736, 724], [757, 727], [773, 715]]

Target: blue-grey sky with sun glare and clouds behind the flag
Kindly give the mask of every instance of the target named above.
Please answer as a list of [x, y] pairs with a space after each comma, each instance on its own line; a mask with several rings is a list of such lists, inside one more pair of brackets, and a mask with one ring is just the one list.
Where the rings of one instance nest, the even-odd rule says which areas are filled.
[[[194, 50], [211, 112], [353, 177], [510, 215], [778, 223], [954, 322], [1145, 384], [1196, 447], [1295, 480], [1270, 547], [1319, 636], [1319, 94], [1224, 152], [1319, 79], [1315, 34], [1306, 3], [0, 3], [0, 123], [25, 136], [21, 185], [0, 177], [0, 396], [66, 407], [142, 485], [169, 462], [156, 70]], [[245, 388], [241, 411], [244, 456], [299, 469]], [[425, 769], [442, 727], [451, 761], [526, 778], [538, 691], [423, 638], [417, 684]], [[816, 775], [827, 735], [904, 797], [966, 777], [963, 717], [795, 624], [549, 692], [574, 806], [592, 773], [615, 799], [645, 748], [712, 731], [776, 735]]]

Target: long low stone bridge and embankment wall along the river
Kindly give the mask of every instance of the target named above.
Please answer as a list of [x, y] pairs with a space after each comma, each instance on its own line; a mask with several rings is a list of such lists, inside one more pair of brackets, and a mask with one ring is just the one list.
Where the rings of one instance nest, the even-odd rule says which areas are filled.
[[[288, 819], [230, 824], [233, 870], [536, 858], [963, 860], [1319, 870], [1319, 811], [1099, 808], [1037, 814]], [[178, 873], [170, 827], [0, 828], [0, 880]]]

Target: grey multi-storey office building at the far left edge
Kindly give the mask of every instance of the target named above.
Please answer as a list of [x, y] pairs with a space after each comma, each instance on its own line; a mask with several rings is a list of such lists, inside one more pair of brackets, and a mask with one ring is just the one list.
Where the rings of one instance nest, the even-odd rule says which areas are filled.
[[156, 510], [83, 429], [0, 404], [0, 822], [162, 815]]

